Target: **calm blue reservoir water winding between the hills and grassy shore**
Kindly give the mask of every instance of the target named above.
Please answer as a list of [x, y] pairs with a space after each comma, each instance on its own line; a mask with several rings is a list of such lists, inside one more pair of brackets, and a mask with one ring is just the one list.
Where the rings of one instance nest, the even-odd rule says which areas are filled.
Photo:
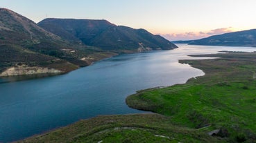
[[125, 99], [136, 90], [182, 84], [201, 70], [179, 64], [187, 55], [250, 47], [188, 46], [119, 55], [65, 75], [13, 82], [0, 79], [0, 142], [20, 140], [97, 115], [142, 113]]

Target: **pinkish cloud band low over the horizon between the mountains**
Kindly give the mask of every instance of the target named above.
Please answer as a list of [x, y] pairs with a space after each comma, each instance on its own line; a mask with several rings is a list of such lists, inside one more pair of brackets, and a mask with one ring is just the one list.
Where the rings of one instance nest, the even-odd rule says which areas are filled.
[[216, 28], [209, 31], [200, 31], [200, 32], [185, 32], [185, 33], [171, 33], [162, 35], [162, 37], [169, 39], [170, 41], [176, 40], [191, 40], [191, 39], [202, 39], [205, 37], [210, 37], [212, 35], [221, 35], [225, 32], [232, 32], [232, 27], [228, 28]]

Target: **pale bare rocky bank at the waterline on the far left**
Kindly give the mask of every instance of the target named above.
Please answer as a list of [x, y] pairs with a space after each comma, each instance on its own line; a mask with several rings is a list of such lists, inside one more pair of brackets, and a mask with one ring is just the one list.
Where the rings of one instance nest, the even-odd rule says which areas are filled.
[[8, 68], [7, 70], [0, 73], [0, 77], [13, 76], [13, 75], [32, 75], [40, 73], [63, 73], [61, 70], [54, 68], [43, 68], [38, 66], [15, 66]]

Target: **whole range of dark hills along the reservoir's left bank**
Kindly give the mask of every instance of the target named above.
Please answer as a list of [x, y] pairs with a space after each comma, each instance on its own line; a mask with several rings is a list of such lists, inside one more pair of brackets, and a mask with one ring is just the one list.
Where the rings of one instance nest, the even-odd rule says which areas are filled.
[[0, 8], [0, 76], [66, 73], [120, 53], [173, 48], [159, 35], [105, 20], [44, 19], [37, 25]]

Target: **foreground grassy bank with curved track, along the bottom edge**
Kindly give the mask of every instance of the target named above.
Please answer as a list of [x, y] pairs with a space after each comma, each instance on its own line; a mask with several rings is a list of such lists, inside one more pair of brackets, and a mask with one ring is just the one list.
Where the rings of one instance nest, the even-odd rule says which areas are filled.
[[99, 116], [20, 142], [218, 142], [158, 114]]

